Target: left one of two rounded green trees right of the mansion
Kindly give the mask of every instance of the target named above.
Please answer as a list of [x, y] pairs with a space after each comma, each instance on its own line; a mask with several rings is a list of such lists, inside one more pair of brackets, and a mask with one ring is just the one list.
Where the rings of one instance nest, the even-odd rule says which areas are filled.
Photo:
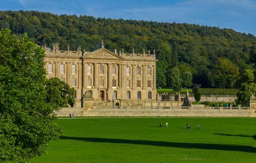
[[181, 75], [178, 68], [173, 67], [167, 70], [167, 83], [170, 87], [173, 87], [174, 91], [180, 91]]

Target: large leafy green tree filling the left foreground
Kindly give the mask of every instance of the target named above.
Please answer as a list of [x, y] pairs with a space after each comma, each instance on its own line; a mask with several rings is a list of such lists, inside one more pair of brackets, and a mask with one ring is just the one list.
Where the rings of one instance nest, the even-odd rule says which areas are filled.
[[46, 102], [44, 50], [0, 30], [0, 161], [25, 162], [60, 136], [57, 107]]

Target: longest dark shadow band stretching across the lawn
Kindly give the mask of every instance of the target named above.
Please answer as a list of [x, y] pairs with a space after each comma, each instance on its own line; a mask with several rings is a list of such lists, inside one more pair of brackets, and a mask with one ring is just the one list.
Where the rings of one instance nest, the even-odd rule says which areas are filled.
[[81, 141], [98, 142], [98, 143], [155, 145], [159, 147], [174, 147], [174, 148], [186, 148], [186, 149], [209, 149], [209, 150], [224, 150], [224, 151], [256, 152], [256, 148], [252, 146], [233, 145], [233, 144], [182, 143], [182, 142], [165, 142], [165, 141], [151, 141], [151, 140], [81, 138], [81, 137], [69, 137], [69, 136], [61, 136], [60, 139], [81, 140]]

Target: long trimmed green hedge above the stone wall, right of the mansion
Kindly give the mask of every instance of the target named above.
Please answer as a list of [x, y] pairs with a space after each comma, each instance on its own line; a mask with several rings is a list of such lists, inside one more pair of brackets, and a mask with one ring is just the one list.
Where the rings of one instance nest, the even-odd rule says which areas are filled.
[[199, 88], [198, 92], [202, 95], [236, 95], [237, 89], [225, 88]]

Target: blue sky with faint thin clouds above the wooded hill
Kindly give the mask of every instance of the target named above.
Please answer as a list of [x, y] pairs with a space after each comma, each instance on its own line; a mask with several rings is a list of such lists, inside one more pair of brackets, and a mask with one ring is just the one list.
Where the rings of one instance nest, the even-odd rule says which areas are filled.
[[195, 23], [256, 36], [256, 0], [0, 0], [0, 10]]

